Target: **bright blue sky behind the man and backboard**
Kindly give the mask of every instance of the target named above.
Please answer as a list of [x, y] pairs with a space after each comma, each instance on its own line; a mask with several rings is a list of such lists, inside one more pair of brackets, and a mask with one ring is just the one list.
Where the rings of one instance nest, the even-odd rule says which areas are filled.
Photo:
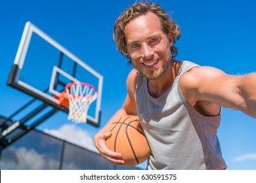
[[[121, 107], [133, 67], [116, 51], [114, 21], [135, 1], [3, 1], [0, 5], [0, 114], [9, 116], [30, 97], [7, 86], [18, 44], [30, 21], [104, 76], [102, 127]], [[181, 29], [177, 59], [217, 67], [232, 75], [256, 71], [256, 3], [253, 0], [158, 0]], [[43, 63], [41, 63], [43, 65]], [[100, 129], [72, 124], [59, 112], [38, 129], [90, 146]], [[219, 141], [228, 169], [256, 169], [256, 120], [223, 108]], [[79, 133], [75, 133], [79, 131]], [[63, 136], [65, 134], [65, 137]], [[74, 135], [75, 134], [75, 135]], [[81, 134], [81, 135], [79, 135]], [[87, 141], [85, 141], [87, 139]]]

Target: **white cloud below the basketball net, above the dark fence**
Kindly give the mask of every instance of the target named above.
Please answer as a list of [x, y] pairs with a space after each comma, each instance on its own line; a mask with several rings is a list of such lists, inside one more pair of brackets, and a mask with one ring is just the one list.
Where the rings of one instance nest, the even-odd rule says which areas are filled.
[[77, 127], [75, 124], [64, 124], [58, 129], [44, 129], [43, 131], [77, 146], [98, 152], [93, 143], [93, 137], [89, 132]]

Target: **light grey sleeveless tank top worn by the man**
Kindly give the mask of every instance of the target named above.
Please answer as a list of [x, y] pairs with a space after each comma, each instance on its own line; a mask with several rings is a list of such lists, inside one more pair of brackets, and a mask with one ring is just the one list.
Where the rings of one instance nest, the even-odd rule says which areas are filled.
[[158, 98], [148, 93], [147, 78], [137, 75], [137, 112], [151, 149], [148, 169], [226, 169], [217, 138], [221, 114], [203, 116], [179, 89], [179, 78], [192, 67], [198, 65], [182, 61], [172, 86]]

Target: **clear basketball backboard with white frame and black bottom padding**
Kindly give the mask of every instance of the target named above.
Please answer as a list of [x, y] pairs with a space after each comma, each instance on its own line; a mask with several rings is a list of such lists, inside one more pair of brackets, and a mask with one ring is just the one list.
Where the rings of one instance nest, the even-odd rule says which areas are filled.
[[7, 84], [68, 113], [68, 108], [58, 104], [58, 97], [70, 82], [86, 82], [97, 88], [98, 97], [88, 110], [87, 122], [98, 126], [103, 76], [27, 22]]

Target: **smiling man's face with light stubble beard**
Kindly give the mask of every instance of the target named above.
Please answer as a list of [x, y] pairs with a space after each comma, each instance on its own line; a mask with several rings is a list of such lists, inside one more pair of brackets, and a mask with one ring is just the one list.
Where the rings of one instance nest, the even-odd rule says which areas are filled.
[[162, 31], [158, 16], [152, 12], [139, 16], [126, 25], [125, 31], [135, 69], [148, 79], [163, 75], [170, 63], [173, 40]]

